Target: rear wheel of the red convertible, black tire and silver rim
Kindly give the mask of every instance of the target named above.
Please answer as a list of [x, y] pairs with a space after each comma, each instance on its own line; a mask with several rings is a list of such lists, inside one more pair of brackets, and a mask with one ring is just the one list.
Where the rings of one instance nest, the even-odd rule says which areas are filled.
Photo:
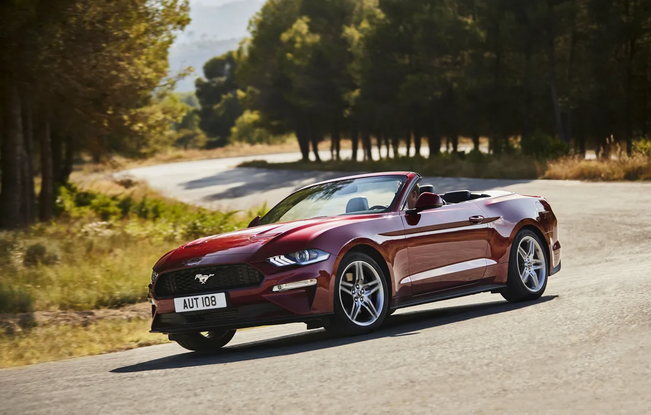
[[[522, 248], [523, 252], [519, 248]], [[541, 267], [536, 269], [539, 266]], [[531, 272], [535, 274], [535, 278]], [[510, 302], [537, 300], [547, 288], [548, 277], [549, 258], [544, 241], [540, 241], [540, 237], [531, 230], [520, 230], [511, 245], [506, 290], [502, 297]]]

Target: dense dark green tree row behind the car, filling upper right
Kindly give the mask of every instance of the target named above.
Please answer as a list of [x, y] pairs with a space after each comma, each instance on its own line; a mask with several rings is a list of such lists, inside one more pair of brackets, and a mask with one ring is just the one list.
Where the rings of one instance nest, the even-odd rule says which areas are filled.
[[460, 135], [495, 154], [648, 136], [651, 0], [269, 0], [249, 29], [247, 107], [305, 159], [324, 135], [432, 156]]

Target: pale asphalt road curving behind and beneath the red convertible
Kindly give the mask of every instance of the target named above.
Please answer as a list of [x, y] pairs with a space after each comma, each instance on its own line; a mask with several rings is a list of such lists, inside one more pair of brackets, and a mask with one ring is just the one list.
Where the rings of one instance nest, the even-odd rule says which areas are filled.
[[[189, 202], [242, 207], [329, 175], [236, 163], [131, 173]], [[5, 369], [0, 413], [651, 413], [651, 184], [428, 181], [547, 197], [563, 260], [540, 301], [480, 294], [404, 309], [357, 338], [296, 324], [240, 331], [217, 356], [169, 344]]]

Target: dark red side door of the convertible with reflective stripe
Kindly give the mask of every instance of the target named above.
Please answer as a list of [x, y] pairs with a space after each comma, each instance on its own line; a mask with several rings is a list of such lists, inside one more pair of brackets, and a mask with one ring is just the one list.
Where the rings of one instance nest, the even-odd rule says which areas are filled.
[[488, 226], [473, 202], [402, 212], [413, 295], [478, 282], [486, 271]]

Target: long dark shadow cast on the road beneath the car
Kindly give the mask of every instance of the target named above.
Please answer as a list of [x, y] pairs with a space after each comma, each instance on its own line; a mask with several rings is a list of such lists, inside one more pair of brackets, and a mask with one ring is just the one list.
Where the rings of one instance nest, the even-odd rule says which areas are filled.
[[546, 295], [531, 302], [510, 303], [506, 301], [484, 302], [433, 310], [418, 310], [404, 314], [391, 315], [385, 321], [380, 330], [365, 336], [348, 338], [336, 338], [325, 330], [311, 330], [299, 334], [291, 334], [271, 338], [268, 340], [251, 341], [230, 347], [225, 347], [218, 354], [205, 353], [180, 353], [142, 362], [129, 366], [123, 366], [111, 370], [112, 373], [131, 373], [148, 370], [187, 368], [191, 366], [205, 366], [224, 364], [230, 362], [241, 362], [244, 360], [255, 360], [266, 357], [296, 355], [318, 349], [338, 347], [359, 341], [367, 341], [384, 337], [400, 337], [406, 335], [417, 335], [418, 330], [438, 327], [460, 321], [466, 321], [476, 317], [499, 314], [518, 310], [519, 308], [536, 306], [543, 302], [551, 301], [557, 295]]

